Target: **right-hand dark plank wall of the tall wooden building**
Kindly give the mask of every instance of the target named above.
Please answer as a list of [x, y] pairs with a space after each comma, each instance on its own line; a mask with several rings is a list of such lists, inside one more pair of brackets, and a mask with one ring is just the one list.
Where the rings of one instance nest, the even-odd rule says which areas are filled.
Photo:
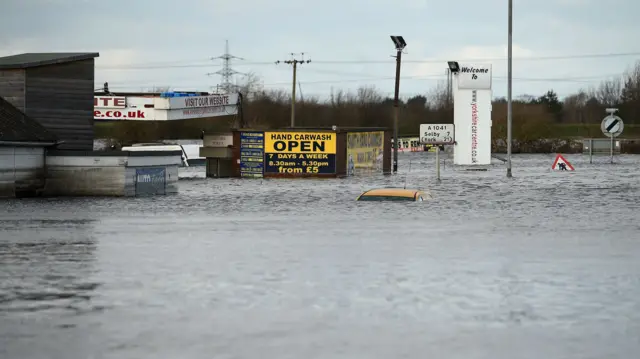
[[64, 142], [61, 150], [93, 149], [94, 62], [25, 70], [25, 112]]

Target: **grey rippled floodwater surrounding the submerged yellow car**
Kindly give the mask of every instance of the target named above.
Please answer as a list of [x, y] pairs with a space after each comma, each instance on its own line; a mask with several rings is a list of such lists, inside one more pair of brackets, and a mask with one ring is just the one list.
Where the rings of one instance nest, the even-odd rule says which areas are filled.
[[[440, 184], [432, 157], [3, 201], [0, 358], [636, 357], [640, 157], [515, 156], [511, 180], [446, 166]], [[354, 201], [405, 178], [434, 200]]]

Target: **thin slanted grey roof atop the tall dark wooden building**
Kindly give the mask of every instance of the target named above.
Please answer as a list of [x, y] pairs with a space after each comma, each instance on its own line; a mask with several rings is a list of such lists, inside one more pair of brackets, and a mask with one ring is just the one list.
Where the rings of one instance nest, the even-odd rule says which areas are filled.
[[63, 64], [99, 57], [97, 52], [30, 52], [0, 57], [0, 70], [26, 69], [29, 67]]

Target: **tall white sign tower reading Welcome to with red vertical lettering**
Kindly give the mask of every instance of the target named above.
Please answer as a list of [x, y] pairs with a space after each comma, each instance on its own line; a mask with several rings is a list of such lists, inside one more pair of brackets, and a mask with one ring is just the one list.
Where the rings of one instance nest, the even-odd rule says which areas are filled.
[[453, 163], [463, 166], [490, 165], [493, 98], [491, 65], [461, 63], [460, 69], [453, 81], [456, 140]]

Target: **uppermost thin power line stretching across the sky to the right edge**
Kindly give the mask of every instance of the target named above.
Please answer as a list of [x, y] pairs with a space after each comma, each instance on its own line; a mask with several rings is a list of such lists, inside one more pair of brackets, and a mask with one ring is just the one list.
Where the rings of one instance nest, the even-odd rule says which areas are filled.
[[[602, 53], [602, 54], [581, 54], [581, 55], [561, 55], [561, 56], [532, 56], [532, 57], [514, 57], [513, 60], [517, 61], [551, 61], [551, 60], [574, 60], [574, 59], [596, 59], [596, 58], [613, 58], [613, 57], [630, 57], [630, 56], [640, 56], [640, 52], [621, 52], [621, 53]], [[219, 58], [223, 58], [222, 56]], [[234, 57], [235, 58], [235, 57]], [[450, 59], [441, 59], [441, 60], [407, 60], [403, 63], [408, 64], [438, 64], [438, 63], [446, 63]], [[475, 58], [475, 59], [459, 59], [459, 62], [482, 62], [482, 61], [491, 61], [491, 62], [499, 62], [506, 61], [506, 57], [495, 57], [495, 58]], [[314, 64], [326, 64], [326, 65], [365, 65], [365, 64], [390, 64], [394, 63], [394, 61], [389, 60], [314, 60]], [[273, 65], [273, 62], [270, 61], [259, 61], [259, 62], [245, 62], [241, 64], [241, 66], [262, 66], [262, 65]], [[98, 70], [152, 70], [152, 69], [165, 69], [165, 68], [197, 68], [197, 67], [211, 67], [211, 64], [207, 63], [188, 63], [184, 64], [170, 64], [167, 62], [165, 64], [161, 63], [138, 63], [138, 64], [130, 64], [130, 65], [115, 65], [115, 66], [96, 66]]]

